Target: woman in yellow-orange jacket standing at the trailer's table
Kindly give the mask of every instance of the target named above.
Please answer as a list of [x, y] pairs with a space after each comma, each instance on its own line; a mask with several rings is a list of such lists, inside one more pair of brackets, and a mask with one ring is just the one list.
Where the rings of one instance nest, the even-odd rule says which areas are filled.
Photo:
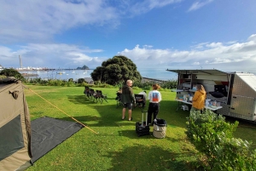
[[197, 84], [195, 95], [192, 99], [192, 107], [190, 114], [195, 111], [201, 111], [205, 107], [205, 100], [207, 99], [207, 92], [203, 85]]

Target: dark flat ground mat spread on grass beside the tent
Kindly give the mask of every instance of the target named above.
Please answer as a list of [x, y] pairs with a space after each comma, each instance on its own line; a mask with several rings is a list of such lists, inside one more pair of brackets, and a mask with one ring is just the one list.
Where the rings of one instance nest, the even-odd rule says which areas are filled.
[[51, 117], [40, 117], [32, 121], [32, 159], [36, 162], [48, 151], [61, 144], [78, 132], [83, 126], [79, 123], [59, 120]]

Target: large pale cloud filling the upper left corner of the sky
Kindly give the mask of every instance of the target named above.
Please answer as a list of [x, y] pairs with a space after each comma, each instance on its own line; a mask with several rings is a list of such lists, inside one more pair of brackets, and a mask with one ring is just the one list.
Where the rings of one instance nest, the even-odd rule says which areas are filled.
[[[0, 6], [1, 42], [23, 39], [47, 40], [56, 33], [75, 26], [108, 23], [119, 25], [116, 9], [104, 1], [3, 1]], [[8, 16], [8, 17], [7, 17]], [[29, 38], [28, 38], [29, 37]]]

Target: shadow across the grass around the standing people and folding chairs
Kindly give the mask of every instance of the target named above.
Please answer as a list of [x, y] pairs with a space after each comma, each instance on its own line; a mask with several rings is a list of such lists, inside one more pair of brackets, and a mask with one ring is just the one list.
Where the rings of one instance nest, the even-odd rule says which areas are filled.
[[[101, 117], [97, 117], [98, 123], [93, 123], [93, 125], [90, 125], [90, 126], [111, 127], [111, 126], [116, 126], [117, 123], [121, 122], [120, 118], [122, 113], [122, 106], [117, 107], [116, 100], [114, 99], [113, 100], [108, 99], [109, 103], [103, 100], [101, 104], [99, 102], [96, 103], [96, 102], [90, 101], [84, 95], [70, 95], [67, 98], [69, 101], [73, 102], [74, 104], [84, 104], [86, 105], [86, 107], [90, 107], [98, 111], [98, 113], [101, 116]], [[146, 111], [148, 110], [148, 101], [144, 110]], [[176, 126], [176, 127], [185, 128], [186, 117], [189, 117], [189, 111], [182, 111], [181, 109], [178, 111], [176, 110], [177, 110], [177, 101], [162, 100], [160, 102], [160, 112], [159, 112], [158, 118], [165, 119], [167, 124], [172, 124], [173, 126]], [[126, 116], [126, 120], [128, 120], [128, 110], [126, 110], [125, 116]], [[142, 120], [141, 108], [135, 108], [132, 111], [132, 117], [133, 117], [132, 124], [135, 124], [134, 122], [141, 122]], [[91, 118], [90, 114], [85, 114], [82, 117], [75, 117], [75, 118], [81, 122], [88, 122], [88, 121], [91, 121], [91, 119], [95, 121], [94, 117]], [[125, 123], [125, 125], [129, 125], [129, 124], [130, 123]]]

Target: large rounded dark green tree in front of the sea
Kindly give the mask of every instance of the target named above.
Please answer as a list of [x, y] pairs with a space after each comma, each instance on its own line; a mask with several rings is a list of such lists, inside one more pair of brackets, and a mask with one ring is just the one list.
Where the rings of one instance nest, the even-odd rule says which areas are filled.
[[141, 82], [142, 76], [137, 71], [137, 66], [127, 57], [119, 55], [113, 56], [102, 62], [102, 66], [96, 67], [91, 72], [90, 77], [94, 81], [105, 82], [115, 85], [130, 79], [133, 82]]

